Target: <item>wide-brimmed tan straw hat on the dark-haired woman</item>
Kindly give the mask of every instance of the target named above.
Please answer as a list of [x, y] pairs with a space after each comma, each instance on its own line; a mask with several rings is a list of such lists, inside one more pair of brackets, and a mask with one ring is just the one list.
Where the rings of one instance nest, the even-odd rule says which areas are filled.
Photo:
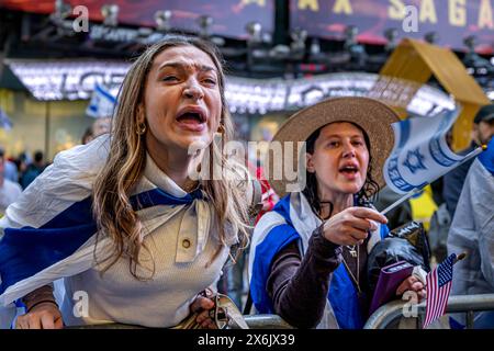
[[[299, 172], [299, 162], [305, 162], [305, 154], [297, 155], [297, 141], [305, 141], [316, 129], [333, 122], [351, 122], [366, 131], [370, 141], [370, 155], [372, 156], [372, 179], [380, 186], [384, 185], [382, 167], [394, 145], [394, 133], [391, 124], [400, 121], [397, 114], [382, 102], [369, 98], [346, 97], [322, 101], [303, 109], [291, 116], [278, 131], [270, 144], [270, 149], [276, 149], [273, 143], [282, 143], [282, 157], [266, 156], [266, 176], [278, 195], [287, 194], [287, 184], [295, 181], [287, 179], [285, 170], [277, 174], [273, 166], [280, 170], [281, 162], [288, 151], [292, 151], [293, 172]], [[294, 141], [292, 150], [283, 141]], [[299, 162], [296, 161], [300, 156]], [[281, 176], [281, 177], [280, 177]], [[300, 174], [299, 177], [301, 177]], [[280, 179], [281, 178], [281, 179]], [[290, 190], [289, 190], [290, 191]]]

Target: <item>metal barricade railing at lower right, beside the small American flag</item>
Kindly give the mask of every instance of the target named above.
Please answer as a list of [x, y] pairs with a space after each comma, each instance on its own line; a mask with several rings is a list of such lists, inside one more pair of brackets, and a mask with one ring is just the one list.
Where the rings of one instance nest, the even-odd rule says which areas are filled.
[[[409, 302], [393, 301], [384, 306], [381, 306], [372, 314], [372, 316], [369, 317], [363, 329], [386, 329], [386, 327], [391, 324], [403, 317], [403, 308], [405, 304], [409, 304]], [[422, 319], [426, 312], [425, 302], [416, 305], [416, 327], [417, 329], [420, 329]], [[494, 310], [494, 294], [450, 296], [446, 307], [447, 314], [467, 314], [467, 329], [473, 328], [473, 313], [480, 310]]]

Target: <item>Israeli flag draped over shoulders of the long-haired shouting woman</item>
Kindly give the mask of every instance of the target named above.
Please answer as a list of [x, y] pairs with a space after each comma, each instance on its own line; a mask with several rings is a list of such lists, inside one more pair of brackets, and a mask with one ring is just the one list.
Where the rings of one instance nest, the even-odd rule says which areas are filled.
[[[97, 225], [91, 190], [106, 161], [109, 139], [105, 134], [58, 154], [54, 165], [8, 207], [0, 219], [0, 306], [94, 265]], [[197, 235], [197, 247], [188, 253], [177, 252], [176, 261], [191, 262], [207, 241], [212, 210], [200, 189], [188, 194], [155, 168], [158, 170], [147, 156], [145, 176], [131, 194], [132, 206], [143, 222], [144, 235], [186, 211], [180, 235]], [[157, 173], [159, 188], [146, 177]], [[111, 239], [102, 236], [97, 257], [109, 252], [111, 245]]]

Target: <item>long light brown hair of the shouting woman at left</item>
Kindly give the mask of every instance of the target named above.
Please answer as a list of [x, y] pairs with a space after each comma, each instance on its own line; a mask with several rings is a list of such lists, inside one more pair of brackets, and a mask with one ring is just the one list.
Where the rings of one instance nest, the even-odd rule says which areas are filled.
[[[134, 186], [143, 177], [146, 163], [145, 135], [138, 135], [138, 109], [144, 99], [147, 75], [155, 57], [170, 47], [195, 46], [206, 53], [217, 69], [218, 88], [222, 100], [221, 124], [224, 127], [224, 141], [232, 138], [233, 123], [227, 113], [225, 101], [225, 81], [221, 55], [217, 49], [206, 42], [184, 36], [170, 36], [164, 42], [150, 46], [130, 68], [121, 90], [119, 103], [114, 111], [110, 154], [105, 166], [98, 174], [93, 186], [93, 215], [98, 224], [97, 242], [100, 235], [108, 235], [113, 240], [113, 250], [99, 263], [108, 262], [102, 272], [111, 268], [121, 257], [130, 258], [130, 271], [133, 276], [142, 280], [137, 274], [141, 267], [139, 253], [144, 248], [144, 228], [139, 217], [132, 208], [130, 195]], [[201, 188], [211, 202], [220, 226], [221, 246], [213, 256], [213, 261], [226, 245], [226, 227], [238, 233], [240, 248], [248, 245], [248, 203], [245, 197], [245, 168], [237, 162], [226, 159], [216, 145], [209, 146], [209, 155], [221, 160], [223, 167], [231, 174], [238, 174], [238, 179], [201, 180]], [[211, 165], [212, 166], [212, 165]], [[243, 173], [243, 174], [240, 174]], [[239, 186], [244, 184], [245, 186]], [[96, 250], [94, 250], [96, 252]], [[151, 257], [151, 256], [150, 256]], [[98, 258], [97, 258], [98, 261]], [[153, 257], [151, 257], [151, 261]], [[149, 270], [149, 269], [148, 269]], [[150, 269], [153, 276], [154, 263]]]

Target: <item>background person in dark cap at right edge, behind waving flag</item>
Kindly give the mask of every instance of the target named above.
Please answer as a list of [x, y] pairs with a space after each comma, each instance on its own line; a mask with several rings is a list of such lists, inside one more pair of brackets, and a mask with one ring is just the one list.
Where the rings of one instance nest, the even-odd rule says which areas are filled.
[[[483, 106], [476, 113], [473, 120], [472, 143], [467, 149], [458, 154], [467, 155], [481, 145], [487, 145], [493, 135], [494, 104], [490, 104]], [[472, 166], [473, 161], [474, 159], [471, 159], [463, 165], [460, 165], [444, 177], [442, 196], [446, 201], [446, 206], [451, 218], [454, 216], [461, 189], [463, 188], [467, 173], [469, 172], [470, 166]]]

